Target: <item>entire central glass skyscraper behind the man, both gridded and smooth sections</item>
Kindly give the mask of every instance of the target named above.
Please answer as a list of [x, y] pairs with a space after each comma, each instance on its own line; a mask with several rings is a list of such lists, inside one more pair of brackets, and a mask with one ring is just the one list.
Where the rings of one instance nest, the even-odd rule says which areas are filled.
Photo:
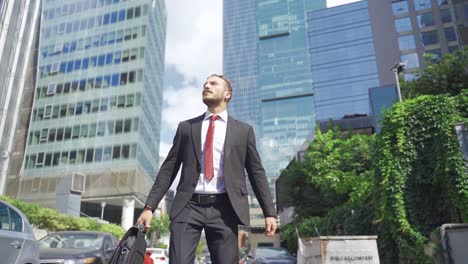
[[[233, 83], [229, 114], [255, 129], [272, 192], [274, 180], [314, 130], [305, 12], [326, 1], [223, 4], [223, 71]], [[255, 201], [252, 225], [263, 225]]]

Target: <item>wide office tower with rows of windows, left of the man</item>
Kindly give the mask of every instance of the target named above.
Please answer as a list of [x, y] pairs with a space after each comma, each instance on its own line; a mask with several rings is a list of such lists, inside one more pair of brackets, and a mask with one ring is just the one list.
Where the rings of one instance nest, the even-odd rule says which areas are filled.
[[159, 167], [165, 35], [164, 0], [43, 1], [21, 198], [53, 206], [79, 173], [82, 211], [134, 223]]

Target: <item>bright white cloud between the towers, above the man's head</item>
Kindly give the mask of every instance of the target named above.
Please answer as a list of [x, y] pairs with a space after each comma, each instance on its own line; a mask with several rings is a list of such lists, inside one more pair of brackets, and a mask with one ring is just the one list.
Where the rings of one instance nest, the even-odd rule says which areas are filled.
[[166, 0], [168, 10], [166, 64], [186, 82], [201, 84], [222, 71], [222, 1]]

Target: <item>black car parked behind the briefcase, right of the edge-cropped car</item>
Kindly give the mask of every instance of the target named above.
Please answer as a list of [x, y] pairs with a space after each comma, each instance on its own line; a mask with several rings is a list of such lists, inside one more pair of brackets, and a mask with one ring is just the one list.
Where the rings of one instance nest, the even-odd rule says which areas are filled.
[[117, 247], [109, 233], [64, 231], [51, 233], [38, 241], [41, 264], [106, 264]]

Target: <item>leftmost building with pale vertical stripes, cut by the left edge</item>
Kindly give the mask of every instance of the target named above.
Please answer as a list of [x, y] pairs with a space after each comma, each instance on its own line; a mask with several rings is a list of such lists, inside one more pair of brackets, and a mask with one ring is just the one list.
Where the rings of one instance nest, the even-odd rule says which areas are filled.
[[16, 196], [34, 92], [40, 1], [0, 1], [0, 194]]

